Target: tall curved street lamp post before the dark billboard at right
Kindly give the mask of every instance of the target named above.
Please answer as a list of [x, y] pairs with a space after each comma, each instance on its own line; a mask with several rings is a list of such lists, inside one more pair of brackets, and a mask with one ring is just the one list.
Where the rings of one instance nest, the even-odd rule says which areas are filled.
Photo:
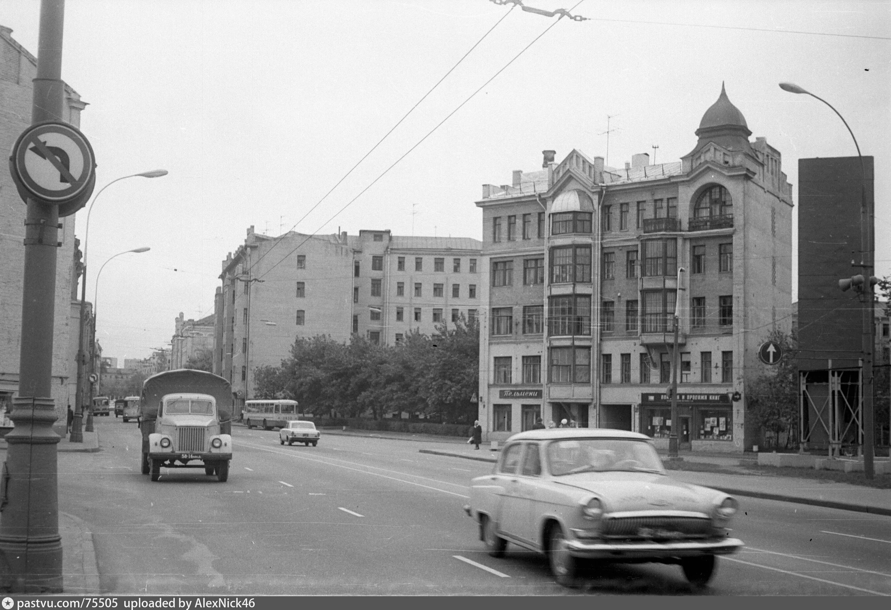
[[872, 283], [870, 281], [870, 277], [873, 274], [873, 253], [874, 253], [874, 227], [873, 227], [873, 211], [872, 206], [869, 199], [866, 196], [866, 167], [863, 164], [863, 156], [860, 153], [860, 144], [857, 144], [857, 138], [854, 137], [854, 132], [851, 130], [851, 127], [847, 124], [845, 117], [841, 116], [841, 113], [833, 108], [832, 104], [822, 99], [822, 97], [818, 97], [817, 95], [813, 95], [810, 91], [802, 87], [798, 87], [793, 83], [780, 83], [780, 88], [783, 91], [788, 91], [789, 93], [794, 94], [805, 94], [810, 95], [811, 97], [820, 100], [822, 103], [825, 103], [829, 106], [833, 112], [838, 115], [838, 118], [841, 119], [841, 122], [845, 124], [847, 128], [847, 132], [851, 134], [851, 139], [854, 140], [854, 147], [857, 149], [857, 157], [860, 159], [860, 171], [861, 171], [861, 184], [860, 184], [860, 264], [856, 265], [856, 267], [862, 268], [862, 274], [865, 277], [865, 281], [863, 282], [863, 309], [862, 309], [862, 352], [863, 352], [863, 365], [862, 365], [862, 405], [863, 405], [863, 474], [867, 479], [871, 479], [875, 476], [875, 470], [873, 465], [873, 457], [874, 457], [874, 448], [873, 448], [873, 436], [875, 434], [874, 423], [873, 423], [873, 397], [872, 397], [872, 383], [873, 383], [873, 372], [872, 372], [872, 350], [875, 349], [875, 328], [874, 328], [874, 311], [875, 303], [873, 302], [873, 294], [872, 294]]

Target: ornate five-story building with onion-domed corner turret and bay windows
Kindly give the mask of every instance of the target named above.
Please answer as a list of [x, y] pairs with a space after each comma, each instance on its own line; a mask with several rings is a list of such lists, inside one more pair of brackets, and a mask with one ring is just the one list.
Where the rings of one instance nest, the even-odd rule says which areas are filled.
[[723, 87], [696, 135], [678, 162], [638, 154], [612, 169], [544, 151], [544, 169], [483, 186], [479, 419], [490, 440], [542, 416], [667, 447], [677, 301], [682, 448], [752, 444], [757, 348], [790, 326], [791, 186]]

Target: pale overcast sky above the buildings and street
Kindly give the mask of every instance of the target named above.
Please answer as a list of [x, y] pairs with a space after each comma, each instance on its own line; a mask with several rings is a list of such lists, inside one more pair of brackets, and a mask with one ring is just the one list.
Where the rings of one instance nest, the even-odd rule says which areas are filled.
[[[828, 106], [778, 83], [845, 117], [876, 159], [877, 275], [891, 274], [891, 2], [576, 2], [523, 4], [588, 21], [486, 0], [68, 0], [62, 78], [89, 104], [96, 191], [169, 172], [94, 204], [87, 300], [103, 355], [146, 358], [180, 312], [213, 313], [248, 227], [481, 239], [481, 185], [541, 169], [545, 149], [679, 161], [722, 82], [750, 139], [781, 152], [795, 202], [799, 158], [856, 150]], [[39, 8], [0, 0], [0, 24], [33, 54]], [[85, 226], [86, 209], [81, 240]], [[96, 289], [106, 260], [144, 246]]]

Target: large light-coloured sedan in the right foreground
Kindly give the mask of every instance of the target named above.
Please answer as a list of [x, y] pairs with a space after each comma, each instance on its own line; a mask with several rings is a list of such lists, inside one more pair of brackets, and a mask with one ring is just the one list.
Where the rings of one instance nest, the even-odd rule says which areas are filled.
[[650, 438], [622, 430], [558, 428], [511, 436], [492, 474], [472, 481], [464, 511], [491, 556], [510, 541], [542, 553], [558, 581], [579, 559], [679, 564], [705, 586], [715, 556], [738, 551], [731, 496], [671, 479]]

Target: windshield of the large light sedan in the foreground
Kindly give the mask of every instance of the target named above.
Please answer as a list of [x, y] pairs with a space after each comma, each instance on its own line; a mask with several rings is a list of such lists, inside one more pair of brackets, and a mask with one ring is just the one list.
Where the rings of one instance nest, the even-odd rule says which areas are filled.
[[664, 473], [656, 449], [634, 439], [565, 439], [547, 449], [551, 474], [655, 472]]

